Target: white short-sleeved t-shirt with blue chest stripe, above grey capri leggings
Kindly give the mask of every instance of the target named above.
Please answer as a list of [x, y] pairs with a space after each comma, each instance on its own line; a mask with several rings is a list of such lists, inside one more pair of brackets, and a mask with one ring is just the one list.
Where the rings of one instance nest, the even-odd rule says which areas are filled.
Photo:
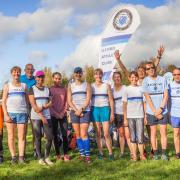
[[123, 102], [127, 102], [127, 118], [144, 118], [141, 86], [127, 86], [123, 94]]

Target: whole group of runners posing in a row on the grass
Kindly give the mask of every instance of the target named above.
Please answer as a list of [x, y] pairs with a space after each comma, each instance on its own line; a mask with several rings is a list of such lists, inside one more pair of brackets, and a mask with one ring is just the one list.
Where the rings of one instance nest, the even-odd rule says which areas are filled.
[[[121, 61], [121, 54], [115, 51], [115, 59], [124, 74], [129, 78], [129, 85], [122, 84], [120, 71], [112, 76], [113, 85], [103, 82], [103, 71], [94, 71], [94, 83], [83, 80], [81, 67], [74, 69], [73, 81], [67, 89], [61, 85], [59, 72], [52, 75], [54, 85], [44, 86], [45, 74], [36, 71], [32, 64], [25, 67], [25, 75], [21, 75], [20, 67], [11, 69], [12, 81], [4, 86], [2, 106], [8, 132], [8, 146], [12, 163], [17, 162], [15, 148], [15, 130], [18, 129], [19, 163], [25, 162], [27, 122], [31, 121], [35, 138], [34, 148], [39, 164], [52, 165], [50, 149], [54, 143], [57, 160], [69, 161], [67, 139], [67, 109], [76, 135], [80, 160], [91, 162], [89, 124], [93, 123], [96, 132], [98, 159], [104, 158], [102, 136], [113, 160], [110, 126], [113, 123], [119, 133], [120, 156], [123, 157], [127, 142], [132, 161], [146, 160], [144, 144], [144, 127], [147, 128], [151, 142], [151, 153], [158, 160], [157, 126], [161, 135], [161, 158], [168, 160], [167, 124], [170, 122], [174, 132], [176, 158], [180, 158], [180, 68], [173, 70], [173, 82], [157, 74], [157, 66], [164, 47], [158, 50], [155, 62], [148, 61], [128, 72]], [[59, 127], [59, 128], [58, 128]], [[45, 154], [41, 152], [42, 128], [45, 134]], [[60, 153], [58, 140], [59, 130], [63, 139], [63, 156]]]

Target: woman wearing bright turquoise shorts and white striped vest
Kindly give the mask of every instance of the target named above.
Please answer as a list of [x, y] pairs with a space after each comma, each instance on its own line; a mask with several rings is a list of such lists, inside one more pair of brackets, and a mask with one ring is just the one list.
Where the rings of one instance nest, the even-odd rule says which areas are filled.
[[101, 143], [101, 127], [104, 131], [106, 146], [109, 151], [109, 159], [113, 160], [112, 141], [109, 133], [109, 121], [114, 120], [114, 101], [110, 85], [102, 82], [103, 71], [96, 69], [94, 72], [95, 83], [92, 84], [92, 111], [91, 118], [97, 135], [98, 158], [103, 159]]

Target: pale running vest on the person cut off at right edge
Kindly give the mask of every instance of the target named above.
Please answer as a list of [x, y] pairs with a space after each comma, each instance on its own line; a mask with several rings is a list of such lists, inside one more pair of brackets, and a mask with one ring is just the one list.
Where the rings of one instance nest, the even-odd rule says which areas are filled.
[[169, 85], [171, 98], [171, 116], [180, 117], [180, 84], [173, 81]]

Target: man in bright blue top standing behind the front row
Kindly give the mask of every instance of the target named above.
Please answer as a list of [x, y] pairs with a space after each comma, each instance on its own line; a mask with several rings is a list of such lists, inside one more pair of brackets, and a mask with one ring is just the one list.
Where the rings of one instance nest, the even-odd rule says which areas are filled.
[[[25, 69], [24, 69], [25, 74], [20, 76], [20, 81], [22, 83], [25, 83], [28, 87], [28, 90], [30, 88], [32, 88], [32, 86], [34, 86], [36, 84], [36, 80], [34, 77], [34, 66], [33, 64], [26, 64], [25, 65]], [[28, 107], [28, 114], [29, 114], [29, 119], [31, 122], [31, 118], [30, 118], [30, 111], [31, 111], [31, 107]], [[28, 124], [27, 124], [28, 125]], [[32, 122], [31, 122], [31, 127], [32, 127]], [[26, 127], [26, 133], [27, 133], [27, 127]], [[34, 157], [37, 158], [37, 153], [36, 153], [36, 148], [35, 148], [35, 137], [34, 137], [34, 131], [33, 131], [33, 127], [32, 127], [32, 145], [33, 145], [33, 154]]]

